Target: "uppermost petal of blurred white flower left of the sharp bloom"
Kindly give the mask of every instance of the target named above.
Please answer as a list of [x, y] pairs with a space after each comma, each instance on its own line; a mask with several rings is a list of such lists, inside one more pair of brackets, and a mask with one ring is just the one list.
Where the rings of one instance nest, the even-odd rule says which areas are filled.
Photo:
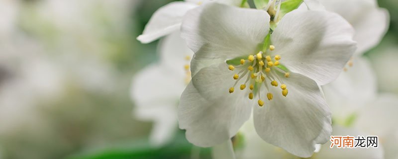
[[[194, 52], [188, 48], [180, 32], [176, 31], [165, 38], [159, 44], [160, 62], [162, 66], [173, 69], [178, 74], [185, 74], [185, 65], [190, 65]], [[186, 59], [189, 57], [190, 59]]]

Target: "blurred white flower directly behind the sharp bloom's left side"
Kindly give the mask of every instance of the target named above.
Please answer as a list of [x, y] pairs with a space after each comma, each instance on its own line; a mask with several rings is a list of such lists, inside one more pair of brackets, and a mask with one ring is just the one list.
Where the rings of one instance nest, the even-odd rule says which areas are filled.
[[155, 146], [167, 143], [177, 130], [177, 105], [191, 80], [189, 62], [194, 54], [179, 32], [165, 37], [159, 50], [160, 63], [137, 73], [131, 87], [135, 116], [154, 121], [150, 140]]

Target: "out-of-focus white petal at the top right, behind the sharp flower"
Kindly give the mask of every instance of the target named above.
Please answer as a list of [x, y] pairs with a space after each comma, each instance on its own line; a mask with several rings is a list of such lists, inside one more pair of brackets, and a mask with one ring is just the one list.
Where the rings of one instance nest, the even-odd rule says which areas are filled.
[[320, 0], [326, 9], [343, 16], [355, 28], [358, 42], [355, 54], [360, 55], [379, 44], [386, 33], [390, 16], [375, 0]]

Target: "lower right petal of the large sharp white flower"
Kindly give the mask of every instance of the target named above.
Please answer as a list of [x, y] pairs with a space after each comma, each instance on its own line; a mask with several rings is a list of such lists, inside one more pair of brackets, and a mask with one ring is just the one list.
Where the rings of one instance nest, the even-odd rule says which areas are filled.
[[284, 97], [279, 87], [271, 86], [274, 99], [254, 108], [254, 126], [266, 142], [298, 157], [310, 157], [315, 144], [329, 139], [329, 108], [314, 80], [291, 73], [284, 82], [289, 94]]

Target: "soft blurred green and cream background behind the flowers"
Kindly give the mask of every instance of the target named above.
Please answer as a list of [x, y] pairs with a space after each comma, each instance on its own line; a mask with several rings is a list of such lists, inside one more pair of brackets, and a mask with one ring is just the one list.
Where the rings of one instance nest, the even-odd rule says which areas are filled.
[[[158, 41], [135, 38], [171, 1], [0, 0], [0, 159], [190, 156], [182, 132], [149, 146], [152, 123], [134, 118], [129, 94], [134, 74], [159, 59]], [[365, 56], [379, 91], [398, 93], [398, 2], [379, 5], [391, 26]]]

